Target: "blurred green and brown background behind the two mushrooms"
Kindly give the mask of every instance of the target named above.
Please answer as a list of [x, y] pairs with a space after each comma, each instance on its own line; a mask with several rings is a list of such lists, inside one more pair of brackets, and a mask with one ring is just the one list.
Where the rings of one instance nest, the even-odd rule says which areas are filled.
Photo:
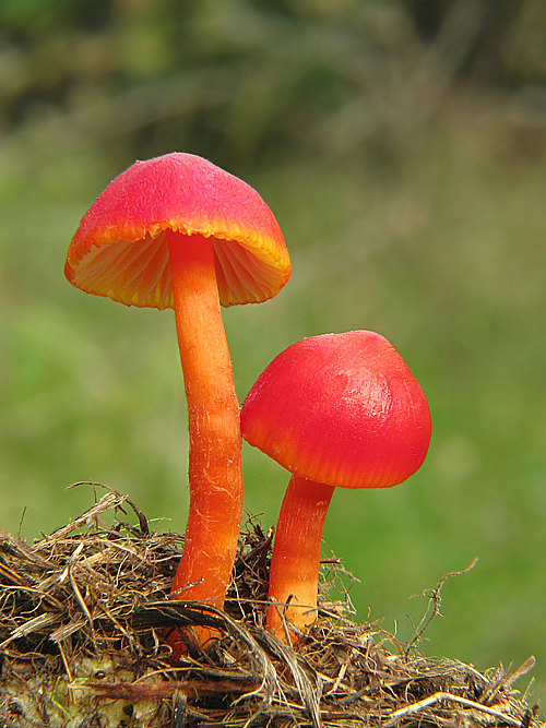
[[[360, 619], [546, 682], [543, 0], [1, 0], [0, 526], [79, 515], [95, 480], [162, 528], [187, 513], [170, 311], [63, 277], [79, 220], [135, 158], [203, 155], [274, 211], [293, 277], [225, 311], [239, 398], [283, 348], [385, 335], [427, 393], [425, 465], [335, 493], [325, 540]], [[245, 447], [246, 506], [287, 475]], [[21, 525], [23, 510], [26, 509]], [[411, 619], [410, 619], [410, 618]]]

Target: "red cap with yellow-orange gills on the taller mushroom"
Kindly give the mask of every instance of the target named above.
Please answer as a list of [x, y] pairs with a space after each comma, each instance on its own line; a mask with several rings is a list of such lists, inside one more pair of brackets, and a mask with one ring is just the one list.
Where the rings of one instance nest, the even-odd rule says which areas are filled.
[[166, 229], [213, 239], [223, 306], [268, 300], [289, 278], [283, 235], [258, 192], [178, 152], [136, 162], [110, 182], [72, 239], [67, 278], [128, 306], [173, 308]]

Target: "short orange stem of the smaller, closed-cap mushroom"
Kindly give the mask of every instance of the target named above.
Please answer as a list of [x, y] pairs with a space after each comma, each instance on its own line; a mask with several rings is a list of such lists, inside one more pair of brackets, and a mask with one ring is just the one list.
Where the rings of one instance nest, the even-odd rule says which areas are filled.
[[293, 475], [278, 514], [270, 568], [268, 628], [285, 640], [280, 612], [300, 630], [317, 619], [320, 545], [334, 489]]

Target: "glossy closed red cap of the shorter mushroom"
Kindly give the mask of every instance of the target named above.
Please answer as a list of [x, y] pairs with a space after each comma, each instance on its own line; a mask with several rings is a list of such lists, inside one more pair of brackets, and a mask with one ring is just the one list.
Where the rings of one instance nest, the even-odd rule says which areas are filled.
[[423, 390], [389, 342], [370, 331], [306, 338], [260, 374], [242, 437], [301, 478], [385, 488], [415, 473], [430, 441]]

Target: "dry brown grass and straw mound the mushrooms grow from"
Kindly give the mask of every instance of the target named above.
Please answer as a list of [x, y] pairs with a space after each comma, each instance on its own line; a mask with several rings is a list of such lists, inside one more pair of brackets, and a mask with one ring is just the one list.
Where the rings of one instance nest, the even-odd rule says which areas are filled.
[[[309, 633], [278, 642], [263, 629], [272, 535], [253, 520], [225, 611], [169, 601], [182, 542], [109, 489], [32, 545], [0, 532], [2, 728], [542, 725], [513, 687], [533, 659], [480, 673], [427, 658], [355, 623], [348, 600], [320, 595]], [[345, 574], [335, 559], [324, 569], [329, 582]], [[189, 644], [174, 666], [164, 635], [202, 624], [222, 640]]]

